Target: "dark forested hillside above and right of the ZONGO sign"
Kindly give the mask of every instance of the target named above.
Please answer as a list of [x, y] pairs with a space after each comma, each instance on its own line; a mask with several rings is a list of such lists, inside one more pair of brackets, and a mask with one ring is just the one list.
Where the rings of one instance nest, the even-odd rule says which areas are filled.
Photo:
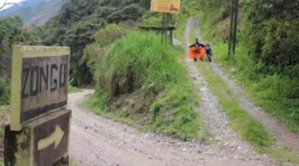
[[108, 23], [134, 26], [148, 7], [148, 0], [70, 0], [45, 25], [42, 43], [71, 46], [72, 84], [89, 84], [93, 73], [81, 58], [84, 47], [94, 41], [92, 35]]

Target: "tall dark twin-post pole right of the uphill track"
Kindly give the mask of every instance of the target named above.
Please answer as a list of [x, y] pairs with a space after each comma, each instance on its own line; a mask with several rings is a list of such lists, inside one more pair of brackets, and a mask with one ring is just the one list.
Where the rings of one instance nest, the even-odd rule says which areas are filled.
[[235, 55], [235, 50], [236, 50], [238, 7], [239, 7], [239, 0], [232, 0], [232, 12], [231, 12], [231, 22], [229, 28], [229, 41], [228, 41], [228, 58], [230, 58], [231, 51], [233, 50], [233, 55]]

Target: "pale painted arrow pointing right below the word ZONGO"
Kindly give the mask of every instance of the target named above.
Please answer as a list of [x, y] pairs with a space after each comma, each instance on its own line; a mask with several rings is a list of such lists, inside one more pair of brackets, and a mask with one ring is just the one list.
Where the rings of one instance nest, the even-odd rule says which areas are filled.
[[57, 149], [57, 146], [61, 142], [63, 135], [64, 135], [64, 132], [61, 130], [59, 125], [56, 125], [54, 133], [52, 133], [50, 136], [48, 136], [45, 139], [42, 139], [38, 142], [38, 145], [37, 145], [38, 151], [49, 147], [53, 143], [55, 143], [55, 149]]

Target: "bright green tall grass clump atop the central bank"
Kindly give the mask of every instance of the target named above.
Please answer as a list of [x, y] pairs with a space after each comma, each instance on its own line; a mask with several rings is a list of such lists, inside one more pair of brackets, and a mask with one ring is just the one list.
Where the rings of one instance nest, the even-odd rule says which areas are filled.
[[[157, 37], [134, 32], [109, 48], [97, 72], [104, 73], [103, 78], [111, 87], [116, 79], [123, 78], [125, 80], [118, 80], [117, 84], [127, 83], [124, 86], [129, 89], [141, 88], [144, 93], [150, 93], [161, 84], [175, 82], [182, 77], [175, 56], [174, 50], [161, 47]], [[130, 82], [131, 78], [133, 82]], [[117, 90], [112, 88], [111, 93], [113, 91]]]

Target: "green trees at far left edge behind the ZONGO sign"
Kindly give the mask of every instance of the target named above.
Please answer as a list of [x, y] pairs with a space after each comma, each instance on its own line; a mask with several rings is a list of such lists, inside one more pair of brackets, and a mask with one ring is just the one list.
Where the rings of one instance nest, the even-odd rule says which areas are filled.
[[19, 16], [0, 19], [0, 105], [10, 100], [11, 45], [39, 45], [41, 43], [35, 29], [23, 28]]

